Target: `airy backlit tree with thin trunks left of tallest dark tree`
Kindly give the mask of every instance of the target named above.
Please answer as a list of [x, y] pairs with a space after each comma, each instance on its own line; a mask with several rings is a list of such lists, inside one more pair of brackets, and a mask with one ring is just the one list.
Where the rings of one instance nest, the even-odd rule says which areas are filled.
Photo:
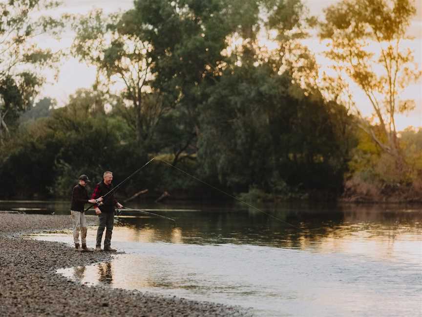
[[122, 13], [105, 16], [102, 10], [75, 16], [72, 53], [97, 68], [94, 89], [108, 94], [113, 87], [119, 89], [123, 84], [121, 96], [134, 113], [134, 120], [128, 120], [128, 123], [134, 124], [138, 146], [148, 147], [156, 125], [168, 107], [149, 87], [151, 45], [139, 35], [127, 32], [128, 27], [142, 23], [131, 24], [130, 18]]

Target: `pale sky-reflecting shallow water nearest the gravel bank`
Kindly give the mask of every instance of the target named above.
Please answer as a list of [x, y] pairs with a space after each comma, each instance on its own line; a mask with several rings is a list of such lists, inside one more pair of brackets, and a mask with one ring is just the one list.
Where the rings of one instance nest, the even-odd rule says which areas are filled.
[[90, 285], [253, 306], [258, 316], [416, 316], [421, 308], [416, 263], [238, 244], [115, 246], [127, 254], [59, 272]]

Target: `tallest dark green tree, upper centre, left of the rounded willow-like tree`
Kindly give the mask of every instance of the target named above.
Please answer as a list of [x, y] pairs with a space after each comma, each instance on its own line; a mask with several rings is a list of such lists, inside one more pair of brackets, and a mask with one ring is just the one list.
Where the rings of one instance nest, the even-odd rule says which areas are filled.
[[215, 80], [230, 31], [224, 9], [221, 0], [146, 0], [135, 1], [134, 8], [126, 13], [127, 33], [144, 38], [152, 46], [148, 51], [151, 87], [173, 109], [166, 117], [173, 132], [165, 126], [160, 129], [168, 140], [167, 150], [174, 154], [173, 163], [183, 152], [197, 150], [197, 107], [204, 100], [204, 83]]

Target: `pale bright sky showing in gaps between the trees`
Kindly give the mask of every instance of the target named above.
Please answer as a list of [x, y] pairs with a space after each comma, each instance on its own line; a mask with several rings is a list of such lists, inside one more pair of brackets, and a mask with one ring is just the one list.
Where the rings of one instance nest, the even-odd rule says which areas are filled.
[[[303, 0], [309, 8], [311, 15], [323, 17], [323, 9], [339, 0]], [[105, 13], [116, 12], [118, 10], [127, 10], [133, 6], [133, 0], [64, 0], [63, 5], [56, 8], [54, 15], [62, 13], [80, 13], [85, 14], [94, 8], [101, 8]], [[422, 2], [416, 1], [417, 16], [409, 29], [409, 35], [415, 37], [409, 46], [415, 51], [415, 60], [419, 68], [422, 66]], [[52, 47], [53, 50], [69, 47], [72, 43], [73, 34], [66, 32], [60, 42], [44, 38], [39, 45]], [[322, 56], [322, 52], [326, 49], [325, 45], [320, 43], [317, 38], [310, 38], [305, 44], [316, 54], [317, 62], [321, 66], [321, 70], [328, 67], [329, 61]], [[321, 71], [322, 72], [322, 71]], [[58, 81], [53, 79], [52, 72], [46, 72], [47, 84], [44, 86], [39, 98], [52, 97], [55, 98], [59, 106], [65, 105], [70, 94], [79, 88], [90, 88], [95, 80], [95, 68], [80, 63], [74, 58], [68, 58], [63, 61], [60, 67]], [[372, 109], [368, 100], [359, 89], [353, 90], [355, 102], [361, 106], [360, 110], [364, 115], [369, 116]], [[422, 81], [418, 84], [410, 86], [403, 94], [403, 97], [414, 99], [416, 109], [407, 114], [399, 114], [396, 116], [398, 130], [404, 130], [408, 126], [422, 128]]]

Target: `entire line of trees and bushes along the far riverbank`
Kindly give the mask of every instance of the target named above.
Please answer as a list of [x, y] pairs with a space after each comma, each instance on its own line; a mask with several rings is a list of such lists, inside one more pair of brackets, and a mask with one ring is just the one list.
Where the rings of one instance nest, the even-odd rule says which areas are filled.
[[[32, 67], [19, 72], [0, 63], [1, 198], [65, 197], [80, 174], [100, 181], [111, 170], [121, 181], [151, 157], [249, 200], [418, 197], [421, 132], [399, 134], [394, 125], [396, 113], [411, 109], [400, 89], [420, 75], [409, 66], [413, 55], [399, 50], [415, 13], [412, 1], [391, 8], [374, 0], [358, 15], [344, 0], [319, 22], [300, 0], [143, 0], [126, 12], [35, 23], [36, 2], [0, 6], [0, 25], [16, 23], [10, 32], [0, 29], [0, 45], [22, 52], [4, 46], [8, 65]], [[397, 31], [379, 28], [371, 20], [377, 16], [379, 25]], [[60, 36], [64, 25], [75, 32], [67, 54], [94, 66], [97, 80], [63, 108], [49, 98], [34, 104], [40, 69], [58, 68], [65, 52], [38, 49], [31, 40], [38, 33]], [[318, 73], [301, 41], [312, 29], [330, 39], [327, 56], [367, 92], [378, 121], [363, 118], [347, 99], [344, 78]], [[370, 69], [372, 55], [362, 43], [371, 37], [397, 44], [380, 51], [389, 59], [379, 61], [386, 75]], [[350, 60], [342, 55], [347, 47], [357, 54]], [[397, 87], [390, 81], [389, 90], [381, 89], [391, 76]], [[145, 188], [151, 195], [168, 190], [171, 198], [218, 196], [159, 161], [120, 194]]]

